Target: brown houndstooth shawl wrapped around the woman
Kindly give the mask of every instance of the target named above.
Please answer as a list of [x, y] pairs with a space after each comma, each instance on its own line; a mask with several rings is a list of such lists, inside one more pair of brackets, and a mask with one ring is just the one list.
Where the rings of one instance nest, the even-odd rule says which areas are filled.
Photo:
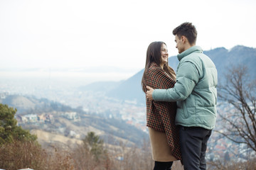
[[[152, 63], [145, 74], [143, 89], [146, 93], [146, 85], [153, 89], [170, 89], [174, 87], [175, 80], [164, 69]], [[178, 129], [175, 125], [176, 102], [149, 101], [146, 98], [146, 126], [166, 132], [171, 152], [176, 159], [181, 160], [181, 148], [179, 144]]]

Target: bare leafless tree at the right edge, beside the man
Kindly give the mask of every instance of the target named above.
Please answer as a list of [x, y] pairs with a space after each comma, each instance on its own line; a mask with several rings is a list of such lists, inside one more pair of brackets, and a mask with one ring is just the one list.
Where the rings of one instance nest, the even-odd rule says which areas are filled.
[[256, 79], [247, 67], [239, 65], [229, 69], [225, 83], [218, 86], [222, 126], [220, 134], [229, 140], [245, 144], [256, 152]]

